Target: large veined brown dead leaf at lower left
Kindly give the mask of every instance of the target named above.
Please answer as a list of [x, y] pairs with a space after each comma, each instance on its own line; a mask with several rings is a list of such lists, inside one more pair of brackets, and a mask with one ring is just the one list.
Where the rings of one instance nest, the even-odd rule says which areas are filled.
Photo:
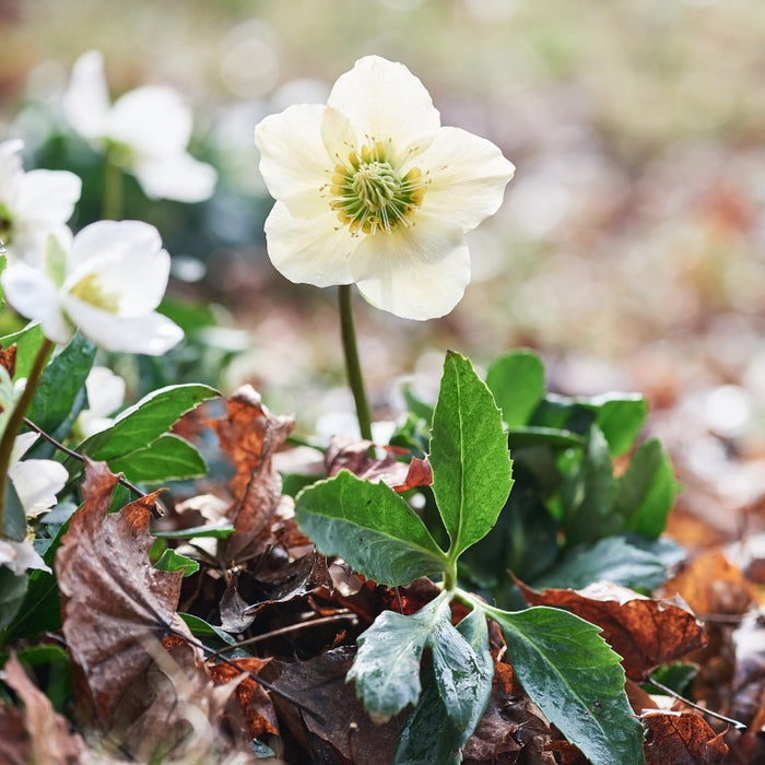
[[146, 638], [161, 638], [175, 617], [183, 573], [154, 568], [148, 532], [154, 496], [107, 515], [117, 478], [86, 462], [83, 505], [56, 554], [63, 634], [84, 674], [96, 716], [108, 723], [117, 704], [152, 663]]

